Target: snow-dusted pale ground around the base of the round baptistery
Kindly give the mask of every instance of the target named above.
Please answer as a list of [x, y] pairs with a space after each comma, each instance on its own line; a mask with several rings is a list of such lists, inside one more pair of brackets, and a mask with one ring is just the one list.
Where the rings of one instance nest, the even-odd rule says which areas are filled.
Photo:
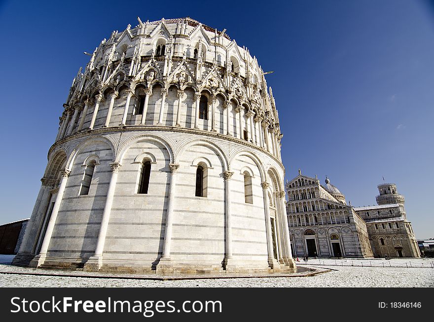
[[[412, 267], [408, 268], [405, 266], [405, 262], [408, 265], [408, 258], [388, 261], [371, 259], [372, 267], [368, 265], [368, 259], [353, 259], [354, 266], [351, 266], [351, 259], [336, 260], [336, 265], [334, 259], [325, 259], [324, 263], [323, 259], [321, 259], [321, 262], [320, 259], [309, 259], [308, 263], [313, 264], [312, 266], [329, 268], [332, 271], [310, 277], [178, 281], [55, 276], [56, 273], [86, 276], [86, 273], [15, 267], [9, 264], [12, 258], [13, 256], [0, 255], [1, 287], [434, 287], [434, 268], [429, 268], [432, 259], [425, 258], [410, 259]], [[339, 263], [339, 261], [342, 261], [342, 263]], [[362, 262], [363, 267], [361, 266]], [[383, 268], [382, 262], [391, 263], [392, 267], [386, 266]], [[403, 267], [393, 267], [402, 266], [402, 264]], [[301, 264], [300, 266], [305, 265]], [[24, 275], [16, 273], [24, 273]], [[25, 275], [26, 273], [48, 273], [53, 275]]]

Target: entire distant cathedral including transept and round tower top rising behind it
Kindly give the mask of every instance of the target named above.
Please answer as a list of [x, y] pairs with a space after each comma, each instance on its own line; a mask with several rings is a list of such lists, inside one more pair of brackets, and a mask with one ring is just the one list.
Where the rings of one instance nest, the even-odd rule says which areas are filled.
[[378, 206], [347, 205], [345, 195], [325, 179], [298, 171], [286, 183], [291, 250], [294, 256], [420, 257], [404, 197], [395, 183], [378, 185]]

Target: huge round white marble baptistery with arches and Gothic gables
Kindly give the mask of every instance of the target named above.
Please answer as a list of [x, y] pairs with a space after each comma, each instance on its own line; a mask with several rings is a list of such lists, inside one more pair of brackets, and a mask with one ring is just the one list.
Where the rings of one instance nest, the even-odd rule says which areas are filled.
[[293, 270], [271, 88], [225, 30], [113, 31], [79, 70], [15, 265]]

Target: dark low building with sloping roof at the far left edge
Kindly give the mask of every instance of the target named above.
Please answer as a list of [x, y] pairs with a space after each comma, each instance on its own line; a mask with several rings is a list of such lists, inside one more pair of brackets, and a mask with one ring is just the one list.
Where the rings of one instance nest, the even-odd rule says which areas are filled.
[[0, 254], [16, 254], [23, 240], [29, 218], [0, 226]]

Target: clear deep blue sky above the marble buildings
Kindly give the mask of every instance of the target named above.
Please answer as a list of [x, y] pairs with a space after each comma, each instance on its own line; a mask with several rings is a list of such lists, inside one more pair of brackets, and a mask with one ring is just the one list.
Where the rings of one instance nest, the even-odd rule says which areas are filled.
[[[162, 5], [161, 3], [164, 3]], [[327, 175], [354, 206], [398, 184], [434, 237], [434, 6], [418, 0], [1, 1], [0, 223], [30, 216], [72, 78], [128, 24], [190, 16], [256, 55], [280, 114], [287, 179]], [[430, 207], [431, 206], [431, 207]]]

